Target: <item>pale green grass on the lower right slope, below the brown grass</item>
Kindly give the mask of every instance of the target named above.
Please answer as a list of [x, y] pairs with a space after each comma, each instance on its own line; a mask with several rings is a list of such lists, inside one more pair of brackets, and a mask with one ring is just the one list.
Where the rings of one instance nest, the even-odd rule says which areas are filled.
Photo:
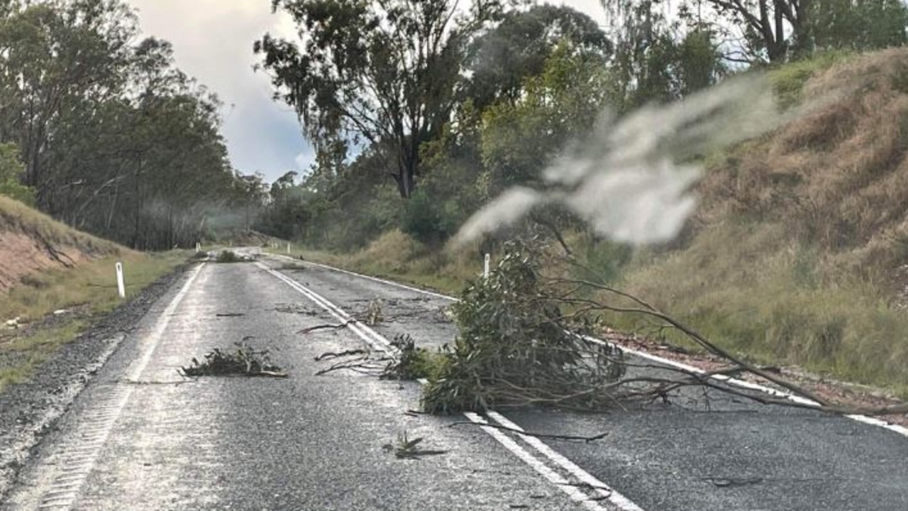
[[[741, 356], [908, 396], [908, 316], [873, 281], [828, 264], [783, 230], [717, 225], [685, 250], [639, 257], [619, 285]], [[640, 317], [609, 319], [656, 332]], [[659, 336], [685, 344], [671, 331]]]

